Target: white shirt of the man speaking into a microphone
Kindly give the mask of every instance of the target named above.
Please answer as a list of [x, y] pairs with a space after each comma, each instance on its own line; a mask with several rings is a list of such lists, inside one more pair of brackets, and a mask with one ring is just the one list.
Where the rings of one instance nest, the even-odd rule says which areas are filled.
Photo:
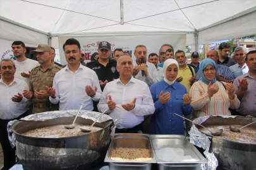
[[[133, 61], [133, 67], [135, 67], [137, 64], [136, 61]], [[159, 78], [158, 78], [158, 74], [157, 74], [157, 70], [155, 69], [155, 65], [150, 63], [150, 62], [146, 62], [147, 65], [147, 72], [149, 72], [149, 76], [142, 76], [142, 71], [139, 71], [138, 74], [135, 76], [135, 79], [139, 79], [143, 82], [145, 82], [147, 85], [149, 85], [149, 87], [154, 84], [155, 82], [159, 82]]]

